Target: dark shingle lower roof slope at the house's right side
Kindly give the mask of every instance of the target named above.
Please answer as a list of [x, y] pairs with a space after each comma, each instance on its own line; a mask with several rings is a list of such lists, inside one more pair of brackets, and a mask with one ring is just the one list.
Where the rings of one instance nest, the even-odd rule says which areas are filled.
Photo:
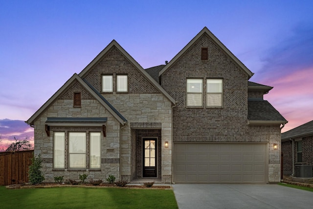
[[248, 101], [248, 119], [254, 121], [287, 120], [266, 100]]

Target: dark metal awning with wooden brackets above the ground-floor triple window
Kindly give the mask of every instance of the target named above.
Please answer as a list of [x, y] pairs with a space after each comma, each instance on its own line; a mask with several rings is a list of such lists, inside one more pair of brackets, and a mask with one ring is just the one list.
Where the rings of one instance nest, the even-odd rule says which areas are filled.
[[45, 132], [50, 136], [50, 126], [102, 126], [103, 136], [106, 137], [107, 117], [48, 117], [45, 121]]

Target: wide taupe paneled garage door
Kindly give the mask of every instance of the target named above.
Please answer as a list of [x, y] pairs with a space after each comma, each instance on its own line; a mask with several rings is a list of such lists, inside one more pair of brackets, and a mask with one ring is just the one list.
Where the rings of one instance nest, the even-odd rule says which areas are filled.
[[267, 144], [174, 143], [176, 183], [267, 183]]

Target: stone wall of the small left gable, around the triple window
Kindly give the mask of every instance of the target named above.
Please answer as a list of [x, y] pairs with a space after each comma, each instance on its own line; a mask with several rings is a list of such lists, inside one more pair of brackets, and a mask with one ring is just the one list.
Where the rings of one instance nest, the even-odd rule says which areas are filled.
[[[70, 93], [68, 94], [70, 95]], [[85, 97], [82, 95], [82, 98]], [[41, 154], [45, 182], [54, 182], [54, 176], [64, 176], [64, 179], [79, 180], [79, 174], [86, 173], [88, 178], [105, 179], [109, 174], [119, 179], [119, 127], [120, 123], [95, 99], [82, 99], [81, 108], [73, 108], [73, 100], [56, 100], [43, 115], [38, 118], [35, 125], [35, 155]], [[51, 127], [50, 137], [45, 133], [45, 121], [47, 117], [107, 117], [107, 136], [104, 137], [101, 131], [101, 168], [99, 169], [54, 169], [53, 168], [53, 130], [55, 131], [82, 131], [100, 130], [99, 127]], [[102, 130], [102, 129], [101, 129]], [[88, 143], [88, 142], [87, 142]], [[112, 152], [107, 152], [107, 150]]]

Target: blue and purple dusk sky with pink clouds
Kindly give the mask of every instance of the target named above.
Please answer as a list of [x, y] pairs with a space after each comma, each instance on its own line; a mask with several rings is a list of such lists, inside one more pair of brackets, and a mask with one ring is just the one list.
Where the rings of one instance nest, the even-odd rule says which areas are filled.
[[113, 39], [144, 69], [170, 61], [206, 26], [274, 87], [289, 122], [313, 120], [313, 0], [0, 0], [0, 135], [24, 123]]

